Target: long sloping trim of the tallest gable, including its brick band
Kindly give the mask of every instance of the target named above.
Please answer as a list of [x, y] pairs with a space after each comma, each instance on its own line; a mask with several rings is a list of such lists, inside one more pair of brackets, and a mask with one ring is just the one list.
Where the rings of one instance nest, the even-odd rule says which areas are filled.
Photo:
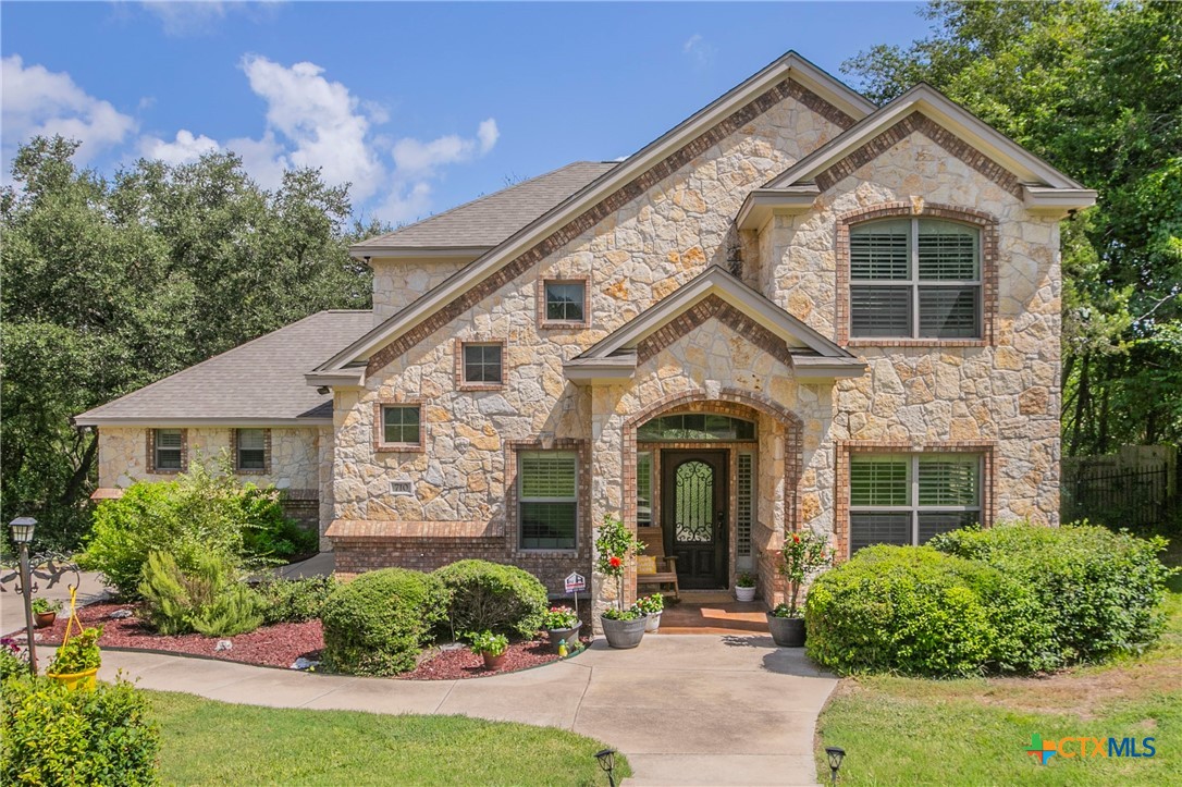
[[[339, 372], [358, 360], [368, 360], [369, 373], [379, 370], [714, 142], [788, 97], [840, 128], [853, 125], [873, 109], [865, 98], [788, 52], [376, 326], [310, 373], [309, 383], [339, 381]], [[351, 375], [361, 377], [359, 370]]]

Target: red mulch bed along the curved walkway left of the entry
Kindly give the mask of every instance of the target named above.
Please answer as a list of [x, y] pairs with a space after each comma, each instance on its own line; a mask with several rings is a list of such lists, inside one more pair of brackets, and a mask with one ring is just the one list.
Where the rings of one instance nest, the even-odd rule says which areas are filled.
[[[111, 618], [111, 613], [118, 610], [130, 610], [132, 617]], [[290, 668], [300, 657], [319, 661], [324, 648], [324, 631], [319, 620], [277, 623], [236, 637], [204, 637], [196, 633], [165, 637], [155, 633], [135, 617], [136, 613], [138, 610], [135, 604], [103, 603], [78, 607], [78, 619], [84, 626], [103, 626], [98, 644], [108, 648], [160, 650], [280, 668]], [[52, 626], [38, 629], [38, 642], [46, 645], [61, 644], [66, 620], [67, 616], [59, 612]], [[222, 639], [230, 640], [230, 649], [214, 650]], [[483, 658], [467, 648], [442, 648], [428, 651], [414, 671], [397, 677], [408, 681], [454, 681], [512, 672], [557, 661], [558, 653], [553, 652], [545, 639], [509, 644], [505, 663], [495, 671], [486, 670]]]

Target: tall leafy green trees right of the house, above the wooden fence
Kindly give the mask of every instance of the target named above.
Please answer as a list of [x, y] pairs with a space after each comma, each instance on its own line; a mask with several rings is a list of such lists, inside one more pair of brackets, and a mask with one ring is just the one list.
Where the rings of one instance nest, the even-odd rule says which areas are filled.
[[1063, 232], [1064, 450], [1182, 438], [1182, 4], [936, 0], [931, 34], [844, 64], [926, 80], [1097, 189]]

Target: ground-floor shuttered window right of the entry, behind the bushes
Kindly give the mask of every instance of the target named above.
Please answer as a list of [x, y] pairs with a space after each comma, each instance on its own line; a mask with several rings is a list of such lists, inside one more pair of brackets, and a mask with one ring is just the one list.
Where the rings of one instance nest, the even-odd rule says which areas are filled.
[[924, 544], [981, 521], [978, 454], [850, 457], [850, 553], [872, 544]]

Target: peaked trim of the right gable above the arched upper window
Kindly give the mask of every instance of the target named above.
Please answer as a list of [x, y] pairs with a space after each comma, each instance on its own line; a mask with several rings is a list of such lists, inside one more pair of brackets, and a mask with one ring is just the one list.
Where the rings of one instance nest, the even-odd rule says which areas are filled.
[[830, 165], [916, 110], [953, 131], [1019, 178], [1039, 181], [1052, 188], [1083, 188], [1071, 177], [924, 83], [916, 85], [845, 134], [805, 156], [782, 175], [768, 181], [765, 188], [784, 188], [812, 181]]

